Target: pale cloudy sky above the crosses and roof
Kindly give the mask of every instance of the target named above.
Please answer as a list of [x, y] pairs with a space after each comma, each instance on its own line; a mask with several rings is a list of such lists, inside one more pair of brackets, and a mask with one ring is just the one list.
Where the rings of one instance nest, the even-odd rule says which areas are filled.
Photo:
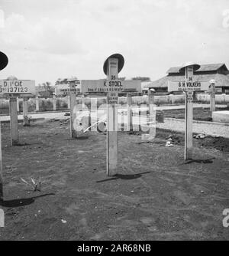
[[229, 68], [228, 0], [0, 0], [0, 51], [10, 75], [101, 79], [111, 54], [120, 77], [159, 79], [188, 61]]

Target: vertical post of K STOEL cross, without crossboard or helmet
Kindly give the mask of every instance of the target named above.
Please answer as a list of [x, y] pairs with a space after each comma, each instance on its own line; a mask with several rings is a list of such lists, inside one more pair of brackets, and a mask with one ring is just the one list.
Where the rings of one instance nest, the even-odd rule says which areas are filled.
[[[108, 59], [108, 80], [118, 79], [118, 59]], [[107, 175], [115, 176], [118, 173], [118, 126], [115, 104], [111, 104], [112, 97], [118, 98], [118, 93], [108, 93], [108, 130], [107, 130]]]

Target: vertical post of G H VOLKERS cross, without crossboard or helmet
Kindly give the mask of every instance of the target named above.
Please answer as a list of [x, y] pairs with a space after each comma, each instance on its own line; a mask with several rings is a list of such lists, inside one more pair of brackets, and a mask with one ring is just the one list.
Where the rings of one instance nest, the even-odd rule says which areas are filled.
[[[185, 82], [193, 80], [193, 66], [185, 67]], [[185, 92], [185, 161], [192, 159], [193, 91]]]

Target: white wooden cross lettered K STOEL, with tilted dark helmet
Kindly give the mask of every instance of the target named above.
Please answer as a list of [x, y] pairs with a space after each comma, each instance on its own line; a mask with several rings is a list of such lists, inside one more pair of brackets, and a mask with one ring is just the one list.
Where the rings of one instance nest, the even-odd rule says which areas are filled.
[[140, 92], [140, 81], [118, 80], [118, 73], [124, 66], [124, 57], [121, 54], [112, 54], [104, 63], [103, 70], [107, 79], [81, 80], [82, 94], [107, 94], [108, 123], [107, 123], [107, 175], [118, 174], [118, 93]]

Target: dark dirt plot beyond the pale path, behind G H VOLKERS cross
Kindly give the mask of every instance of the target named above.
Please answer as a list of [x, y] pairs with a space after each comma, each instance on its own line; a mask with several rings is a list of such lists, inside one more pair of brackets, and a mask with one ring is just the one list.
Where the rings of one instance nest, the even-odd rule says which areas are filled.
[[[215, 111], [229, 110], [229, 107], [216, 108]], [[164, 117], [185, 119], [185, 110], [163, 110]], [[211, 112], [209, 109], [194, 108], [193, 109], [193, 120], [211, 122]]]

